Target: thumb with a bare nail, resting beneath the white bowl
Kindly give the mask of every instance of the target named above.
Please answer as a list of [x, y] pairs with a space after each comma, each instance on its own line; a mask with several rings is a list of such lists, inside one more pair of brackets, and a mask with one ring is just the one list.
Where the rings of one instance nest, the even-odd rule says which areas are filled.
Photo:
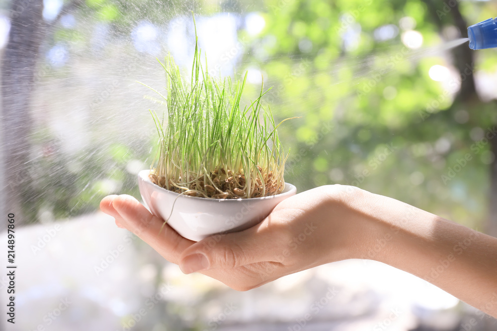
[[[273, 261], [277, 255], [275, 250], [281, 245], [275, 240], [274, 233], [259, 229], [261, 224], [241, 232], [215, 234], [191, 245], [179, 258], [181, 271], [192, 273], [205, 269], [229, 269]], [[267, 226], [264, 228], [267, 229]]]

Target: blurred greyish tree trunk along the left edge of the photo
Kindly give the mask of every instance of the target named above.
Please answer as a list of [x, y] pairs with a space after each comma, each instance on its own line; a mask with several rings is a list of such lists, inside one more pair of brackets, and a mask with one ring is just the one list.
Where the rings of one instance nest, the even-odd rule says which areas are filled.
[[28, 221], [22, 217], [21, 206], [31, 183], [30, 101], [44, 39], [42, 11], [43, 0], [13, 0], [9, 40], [1, 64], [4, 212], [14, 213], [17, 224]]

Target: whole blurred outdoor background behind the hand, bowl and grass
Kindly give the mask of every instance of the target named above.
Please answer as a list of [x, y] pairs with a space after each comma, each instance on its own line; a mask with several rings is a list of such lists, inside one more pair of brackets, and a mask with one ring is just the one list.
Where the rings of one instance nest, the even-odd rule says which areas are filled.
[[276, 120], [301, 116], [279, 129], [300, 192], [354, 185], [497, 236], [497, 51], [459, 41], [495, 1], [1, 0], [1, 206], [18, 265], [16, 324], [2, 329], [497, 330], [373, 261], [236, 292], [98, 211], [108, 194], [140, 199], [149, 109], [163, 109], [137, 81], [161, 89], [168, 52], [189, 70], [191, 11], [211, 74], [248, 71], [245, 102], [263, 77]]

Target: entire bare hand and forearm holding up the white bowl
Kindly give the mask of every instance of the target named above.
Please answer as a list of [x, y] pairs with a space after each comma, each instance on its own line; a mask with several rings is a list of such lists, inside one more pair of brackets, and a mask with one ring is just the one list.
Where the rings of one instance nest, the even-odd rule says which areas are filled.
[[100, 203], [185, 273], [236, 290], [334, 261], [369, 259], [426, 279], [497, 317], [497, 238], [407, 203], [329, 185], [285, 199], [261, 223], [199, 242], [178, 235], [130, 196]]

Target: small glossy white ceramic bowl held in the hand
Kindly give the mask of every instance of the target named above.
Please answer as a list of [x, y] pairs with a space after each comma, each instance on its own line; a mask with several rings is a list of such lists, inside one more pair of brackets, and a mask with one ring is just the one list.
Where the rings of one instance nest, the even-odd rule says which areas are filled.
[[167, 224], [181, 236], [194, 241], [216, 233], [248, 229], [269, 215], [278, 203], [297, 192], [295, 186], [285, 183], [282, 193], [262, 198], [206, 199], [180, 196], [152, 183], [149, 173], [150, 170], [142, 170], [138, 174], [138, 187], [145, 206], [157, 217], [167, 220]]

